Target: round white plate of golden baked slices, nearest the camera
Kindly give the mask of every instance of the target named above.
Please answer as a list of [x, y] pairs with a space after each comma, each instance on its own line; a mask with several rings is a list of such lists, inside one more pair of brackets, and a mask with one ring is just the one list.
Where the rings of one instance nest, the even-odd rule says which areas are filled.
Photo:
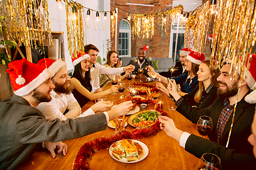
[[149, 154], [149, 148], [138, 140], [119, 140], [114, 142], [109, 149], [110, 156], [118, 162], [140, 162]]

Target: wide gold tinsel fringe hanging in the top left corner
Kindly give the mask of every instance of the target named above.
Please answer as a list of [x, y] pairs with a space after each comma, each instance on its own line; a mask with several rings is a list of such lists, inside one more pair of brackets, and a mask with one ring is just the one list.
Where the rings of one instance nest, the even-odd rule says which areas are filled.
[[45, 36], [53, 45], [47, 0], [0, 1], [0, 8], [1, 15], [8, 17], [4, 22], [6, 30], [16, 42], [21, 41], [26, 47], [43, 46]]

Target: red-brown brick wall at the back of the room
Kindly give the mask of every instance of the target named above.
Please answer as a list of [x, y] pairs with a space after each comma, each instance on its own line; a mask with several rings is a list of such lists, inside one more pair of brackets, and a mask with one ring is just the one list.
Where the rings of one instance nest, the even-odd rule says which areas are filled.
[[[126, 3], [137, 3], [137, 4], [152, 4], [154, 7], [150, 6], [129, 6]], [[167, 4], [172, 4], [172, 0], [140, 0], [140, 1], [132, 1], [132, 0], [114, 0], [110, 2], [111, 9], [119, 8], [118, 10], [118, 18], [117, 18], [117, 35], [119, 35], [119, 23], [122, 19], [127, 19], [127, 11], [131, 13], [142, 13], [142, 14], [152, 14], [152, 13], [160, 13], [163, 11], [167, 11], [171, 9], [171, 7], [167, 7]], [[171, 20], [167, 18], [166, 21], [166, 31], [162, 33], [161, 31], [161, 23], [157, 22], [159, 19], [158, 16], [155, 17], [155, 32], [153, 38], [134, 38], [132, 40], [131, 53], [132, 57], [137, 56], [137, 50], [144, 45], [149, 45], [149, 49], [147, 50], [147, 57], [169, 57], [169, 42], [170, 42], [170, 33], [171, 33]], [[131, 23], [132, 26], [132, 23]], [[114, 38], [111, 38], [114, 44]], [[118, 38], [117, 38], [118, 41]], [[117, 49], [118, 49], [117, 42]], [[206, 45], [206, 48], [203, 50], [207, 56], [210, 56], [210, 50], [208, 48], [209, 45]], [[112, 47], [114, 50], [114, 47]]]

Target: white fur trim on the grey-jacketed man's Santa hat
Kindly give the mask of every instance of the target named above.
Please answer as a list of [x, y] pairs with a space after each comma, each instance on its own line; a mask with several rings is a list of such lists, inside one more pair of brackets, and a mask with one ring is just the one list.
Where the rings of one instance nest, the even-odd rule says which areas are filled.
[[14, 94], [17, 96], [25, 96], [29, 94], [33, 89], [36, 89], [38, 86], [40, 86], [44, 81], [50, 78], [50, 71], [48, 69], [44, 69], [41, 74], [36, 77], [36, 79], [33, 79], [29, 84], [26, 86], [21, 87], [20, 89], [14, 91]]

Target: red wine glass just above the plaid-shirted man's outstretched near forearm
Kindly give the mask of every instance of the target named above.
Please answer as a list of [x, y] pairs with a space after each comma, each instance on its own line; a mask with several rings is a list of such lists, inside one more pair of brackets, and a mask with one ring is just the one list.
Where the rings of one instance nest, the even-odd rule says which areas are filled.
[[208, 135], [208, 133], [212, 130], [213, 120], [207, 115], [201, 115], [198, 122], [196, 123], [196, 128], [200, 135], [204, 137]]

